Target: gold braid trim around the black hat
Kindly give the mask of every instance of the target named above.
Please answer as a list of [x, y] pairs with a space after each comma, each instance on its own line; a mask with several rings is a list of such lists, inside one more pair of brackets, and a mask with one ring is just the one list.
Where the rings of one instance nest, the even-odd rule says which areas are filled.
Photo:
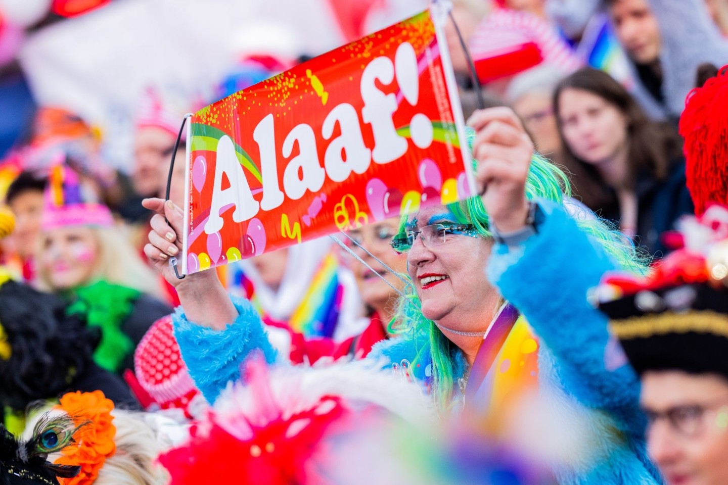
[[728, 337], [728, 315], [713, 310], [688, 313], [656, 313], [612, 321], [612, 333], [620, 340], [646, 338], [653, 335], [696, 332]]

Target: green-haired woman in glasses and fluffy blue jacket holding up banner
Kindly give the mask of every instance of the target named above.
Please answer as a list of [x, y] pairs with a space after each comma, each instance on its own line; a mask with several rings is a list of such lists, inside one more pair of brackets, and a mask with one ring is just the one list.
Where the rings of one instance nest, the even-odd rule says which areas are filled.
[[[554, 465], [559, 481], [659, 483], [641, 437], [638, 382], [628, 366], [614, 364], [618, 358], [607, 359], [613, 368], [605, 364], [611, 348], [606, 321], [590, 313], [585, 296], [604, 270], [641, 273], [644, 266], [629, 241], [598, 218], [587, 215], [575, 222], [567, 214], [566, 177], [534, 155], [510, 109], [478, 111], [469, 124], [475, 129], [471, 140], [482, 193], [403, 219], [402, 231], [392, 239], [395, 250], [408, 254], [410, 284], [395, 318], [400, 336], [380, 342], [368, 358], [426, 382], [443, 414], [462, 409], [470, 376], [478, 381], [472, 393], [478, 409], [480, 382], [488, 387], [483, 369], [495, 365], [504, 372], [505, 361], [498, 360], [502, 346], [523, 330], [507, 300], [538, 335], [539, 342], [522, 340], [521, 353], [537, 354], [539, 390], [550, 390], [564, 412], [590, 428], [588, 451]], [[171, 239], [179, 244], [182, 212], [159, 199], [145, 204], [158, 212], [145, 252], [176, 285], [184, 313], [175, 315], [175, 337], [191, 376], [212, 402], [240, 377], [240, 362], [252, 350], [261, 350], [271, 364], [274, 350], [250, 304], [231, 300], [214, 273], [175, 280], [165, 236], [175, 235]], [[596, 261], [593, 270], [574, 281], [559, 276], [561, 266], [571, 268], [580, 258]], [[489, 340], [493, 336], [495, 344]], [[496, 355], [488, 358], [484, 354], [491, 352], [483, 353], [484, 347]]]

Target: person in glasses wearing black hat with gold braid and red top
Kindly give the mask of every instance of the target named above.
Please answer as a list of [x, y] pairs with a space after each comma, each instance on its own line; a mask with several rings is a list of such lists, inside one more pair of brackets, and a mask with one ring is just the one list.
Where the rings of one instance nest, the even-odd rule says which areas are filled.
[[682, 249], [648, 281], [612, 276], [597, 292], [621, 295], [599, 306], [641, 377], [648, 452], [670, 485], [728, 483], [727, 241], [710, 254]]

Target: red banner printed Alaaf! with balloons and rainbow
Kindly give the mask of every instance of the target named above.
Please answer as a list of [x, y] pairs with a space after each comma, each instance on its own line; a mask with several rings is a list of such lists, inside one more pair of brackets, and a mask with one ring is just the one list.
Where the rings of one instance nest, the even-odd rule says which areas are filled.
[[191, 117], [183, 273], [475, 193], [440, 8]]

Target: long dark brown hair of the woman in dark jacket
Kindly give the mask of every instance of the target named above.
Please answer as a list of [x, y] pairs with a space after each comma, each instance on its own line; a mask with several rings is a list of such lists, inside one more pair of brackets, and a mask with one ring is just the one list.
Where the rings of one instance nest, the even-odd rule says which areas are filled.
[[626, 181], [628, 185], [635, 183], [638, 173], [649, 174], [656, 180], [668, 177], [670, 165], [678, 158], [682, 148], [676, 129], [647, 118], [636, 100], [609, 74], [593, 68], [579, 69], [556, 86], [553, 108], [563, 144], [563, 164], [571, 172], [574, 192], [581, 196], [587, 207], [593, 210], [613, 208], [617, 201], [612, 188], [606, 185], [596, 169], [578, 159], [563, 137], [558, 102], [565, 89], [579, 89], [597, 95], [625, 115], [630, 162], [630, 180]]

